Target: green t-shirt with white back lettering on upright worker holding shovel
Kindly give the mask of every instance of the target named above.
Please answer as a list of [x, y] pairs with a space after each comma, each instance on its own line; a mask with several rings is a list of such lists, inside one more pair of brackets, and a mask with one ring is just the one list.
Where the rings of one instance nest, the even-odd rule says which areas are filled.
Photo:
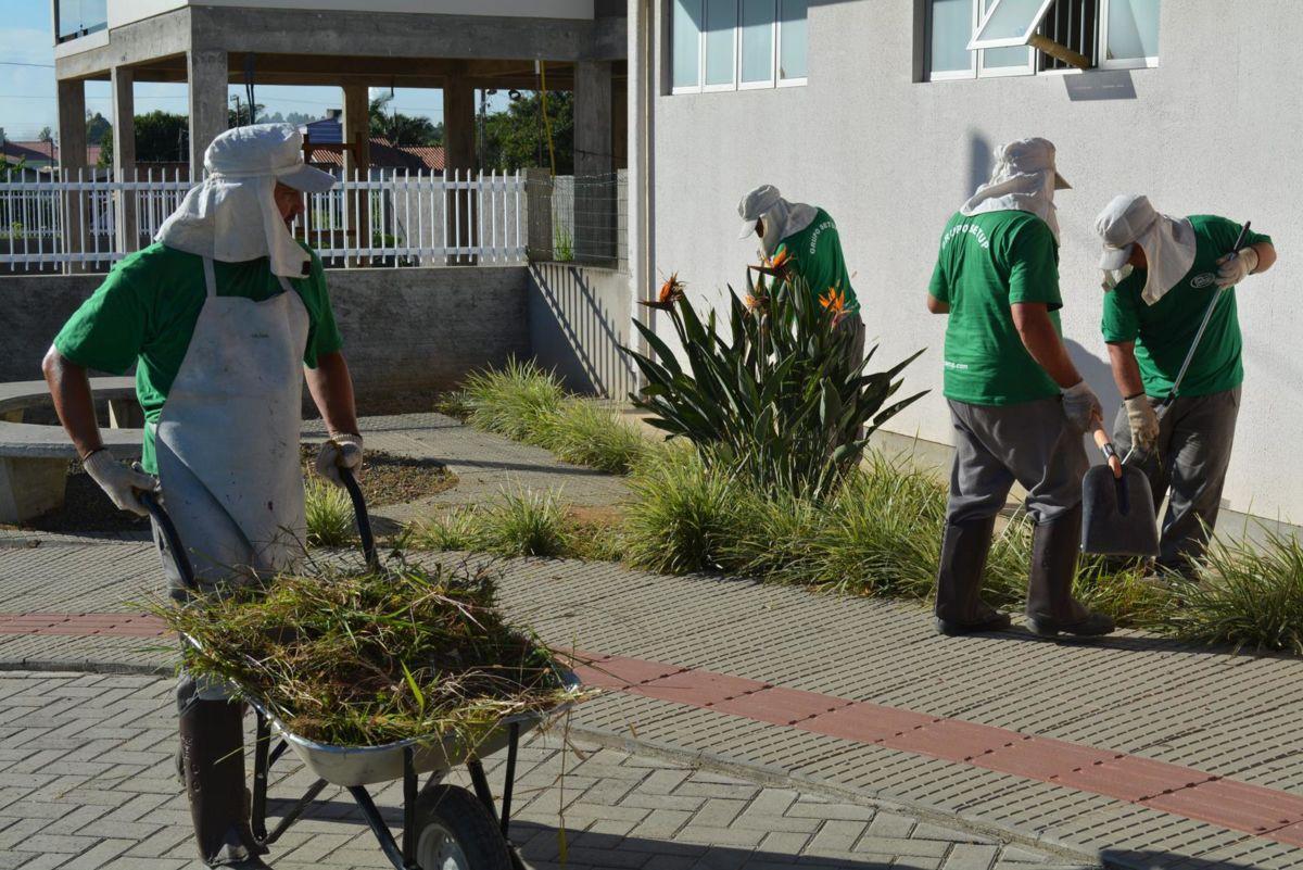
[[1049, 224], [1027, 211], [956, 212], [941, 236], [928, 293], [950, 303], [947, 399], [1015, 405], [1059, 395], [1058, 384], [1023, 345], [1011, 307], [1044, 302], [1054, 330], [1061, 330], [1058, 242]]

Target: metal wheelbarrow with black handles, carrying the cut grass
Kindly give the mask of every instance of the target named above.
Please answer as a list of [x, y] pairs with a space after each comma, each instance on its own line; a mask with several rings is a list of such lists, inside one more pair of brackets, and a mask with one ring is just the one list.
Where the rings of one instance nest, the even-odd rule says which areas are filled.
[[[362, 491], [352, 471], [340, 469], [340, 477], [353, 500], [362, 552], [367, 564], [379, 564], [375, 540]], [[194, 568], [181, 546], [176, 526], [152, 494], [141, 496], [150, 516], [167, 539], [177, 569], [186, 586], [197, 589]], [[199, 643], [184, 638], [197, 649]], [[567, 672], [564, 685], [579, 689], [579, 677]], [[552, 718], [571, 703], [546, 714], [529, 712], [508, 716], [498, 723], [482, 741], [466, 745], [455, 735], [429, 735], [379, 746], [335, 746], [319, 744], [293, 733], [253, 693], [241, 692], [257, 716], [254, 742], [254, 780], [251, 828], [259, 847], [270, 847], [298, 821], [327, 785], [343, 787], [353, 796], [362, 818], [379, 841], [380, 850], [396, 870], [523, 870], [524, 863], [509, 840], [511, 801], [516, 780], [516, 753], [521, 735], [545, 719]], [[272, 746], [275, 741], [275, 746]], [[481, 758], [507, 749], [507, 767], [502, 787], [502, 811], [494, 801]], [[276, 826], [267, 830], [267, 783], [271, 767], [287, 750], [317, 776], [308, 791], [285, 807]], [[442, 780], [465, 765], [473, 792]], [[429, 775], [422, 785], [420, 778]], [[399, 843], [390, 832], [367, 785], [403, 780], [403, 834]]]

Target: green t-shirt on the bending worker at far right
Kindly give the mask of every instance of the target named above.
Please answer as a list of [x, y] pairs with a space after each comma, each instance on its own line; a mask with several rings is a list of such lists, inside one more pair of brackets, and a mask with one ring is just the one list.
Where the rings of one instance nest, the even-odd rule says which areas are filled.
[[[1135, 341], [1140, 379], [1149, 396], [1162, 397], [1181, 371], [1190, 345], [1203, 323], [1204, 311], [1217, 293], [1217, 260], [1231, 251], [1240, 225], [1216, 215], [1191, 215], [1195, 228], [1195, 264], [1161, 300], [1148, 305], [1144, 290], [1147, 270], [1138, 268], [1104, 297], [1104, 340]], [[1250, 231], [1244, 245], [1270, 244], [1272, 237]], [[1235, 288], [1213, 310], [1208, 331], [1199, 343], [1190, 370], [1181, 383], [1182, 396], [1208, 396], [1234, 389], [1244, 380], [1240, 362], [1239, 316]]]

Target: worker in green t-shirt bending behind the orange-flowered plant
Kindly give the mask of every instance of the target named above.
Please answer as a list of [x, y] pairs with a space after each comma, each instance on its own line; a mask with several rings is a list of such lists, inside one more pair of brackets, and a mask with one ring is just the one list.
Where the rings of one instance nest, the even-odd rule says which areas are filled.
[[761, 185], [743, 197], [737, 214], [743, 219], [739, 238], [758, 236], [764, 259], [787, 263], [825, 307], [839, 309], [837, 328], [851, 333], [848, 353], [855, 362], [861, 361], [864, 320], [833, 218], [822, 208], [787, 202], [773, 185]]

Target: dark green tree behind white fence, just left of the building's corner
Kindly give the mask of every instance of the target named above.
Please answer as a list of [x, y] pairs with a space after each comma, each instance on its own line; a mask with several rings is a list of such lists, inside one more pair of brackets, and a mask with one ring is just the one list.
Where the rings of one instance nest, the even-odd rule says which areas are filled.
[[[551, 124], [556, 175], [575, 172], [575, 95], [547, 92], [547, 119]], [[515, 172], [524, 167], [549, 167], [547, 130], [543, 125], [542, 95], [523, 94], [506, 112], [483, 119], [483, 168]]]

